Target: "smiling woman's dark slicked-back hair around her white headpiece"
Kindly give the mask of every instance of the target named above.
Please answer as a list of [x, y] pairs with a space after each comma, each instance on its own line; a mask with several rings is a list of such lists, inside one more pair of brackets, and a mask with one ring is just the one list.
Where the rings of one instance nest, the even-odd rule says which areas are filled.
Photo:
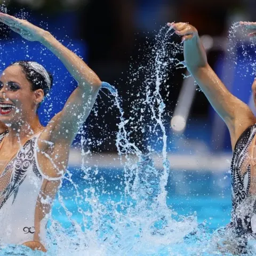
[[[36, 91], [38, 89], [42, 89], [44, 91], [44, 96], [46, 96], [52, 87], [52, 83], [53, 83], [52, 74], [49, 73], [49, 71], [47, 71], [47, 73], [50, 77], [50, 82], [51, 82], [50, 88], [49, 88], [45, 77], [42, 74], [36, 72], [33, 68], [31, 68], [29, 62], [31, 62], [31, 61], [27, 61], [27, 60], [15, 61], [10, 66], [19, 65], [22, 68], [22, 71], [25, 74], [26, 78], [31, 83], [31, 90]], [[41, 105], [41, 103], [39, 104], [39, 106], [40, 105]], [[39, 108], [39, 106], [38, 106], [38, 108]]]

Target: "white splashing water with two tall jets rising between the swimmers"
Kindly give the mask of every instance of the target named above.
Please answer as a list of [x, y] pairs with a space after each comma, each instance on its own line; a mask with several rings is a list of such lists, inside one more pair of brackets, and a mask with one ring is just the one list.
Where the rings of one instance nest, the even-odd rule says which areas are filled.
[[[162, 33], [162, 31], [161, 31]], [[160, 34], [161, 34], [160, 33]], [[82, 182], [72, 179], [72, 174], [67, 172], [63, 183], [68, 182], [74, 191], [72, 197], [76, 210], [72, 212], [67, 206], [67, 194], [58, 193], [58, 211], [65, 215], [70, 225], [65, 227], [51, 217], [47, 244], [52, 244], [49, 254], [65, 255], [162, 255], [170, 254], [171, 245], [181, 243], [183, 238], [197, 227], [196, 216], [180, 217], [179, 221], [173, 210], [166, 205], [166, 185], [170, 173], [170, 164], [166, 153], [167, 135], [162, 121], [165, 104], [161, 97], [160, 87], [164, 84], [167, 68], [175, 60], [169, 62], [162, 60], [168, 58], [165, 51], [167, 33], [158, 35], [154, 51], [155, 55], [150, 63], [154, 76], [145, 81], [145, 97], [140, 99], [145, 111], [148, 109], [151, 116], [150, 132], [161, 134], [163, 141], [162, 170], [154, 166], [154, 151], [148, 147], [148, 152], [142, 152], [134, 142], [130, 141], [130, 131], [127, 125], [133, 122], [134, 117], [125, 119], [122, 100], [117, 90], [107, 83], [102, 84], [114, 96], [114, 105], [119, 111], [120, 122], [116, 138], [116, 147], [119, 161], [123, 166], [124, 193], [120, 197], [104, 196], [103, 191], [97, 191], [97, 167], [86, 167], [86, 157], [90, 150], [85, 151], [83, 145], [88, 142], [82, 133], [82, 166], [84, 180], [87, 186], [83, 191]], [[158, 49], [159, 45], [163, 45]], [[135, 109], [134, 111], [137, 110]], [[142, 110], [143, 111], [143, 110]], [[143, 118], [141, 119], [143, 123]], [[153, 127], [153, 128], [152, 128]], [[129, 128], [128, 128], [129, 129]], [[95, 181], [96, 180], [96, 181]], [[105, 182], [99, 178], [100, 182]], [[82, 183], [82, 184], [81, 184]], [[89, 184], [89, 186], [88, 186]], [[65, 190], [65, 193], [66, 190]], [[75, 197], [74, 197], [75, 193]], [[113, 199], [114, 198], [114, 199]], [[65, 201], [66, 199], [66, 201]], [[79, 213], [79, 218], [74, 214]], [[65, 246], [64, 246], [65, 245]]]

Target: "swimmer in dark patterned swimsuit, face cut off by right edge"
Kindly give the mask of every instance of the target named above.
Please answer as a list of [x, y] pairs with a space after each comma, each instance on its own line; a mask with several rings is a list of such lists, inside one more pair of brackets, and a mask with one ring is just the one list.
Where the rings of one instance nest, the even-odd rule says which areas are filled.
[[[188, 23], [168, 23], [182, 37], [186, 67], [212, 107], [225, 121], [231, 138], [231, 197], [233, 209], [229, 228], [239, 236], [256, 238], [256, 117], [249, 106], [231, 94], [207, 63], [206, 53], [195, 27]], [[252, 30], [256, 22], [240, 22], [241, 28]], [[252, 84], [256, 105], [256, 79]], [[246, 239], [245, 239], [246, 244]], [[246, 253], [245, 244], [237, 246]]]

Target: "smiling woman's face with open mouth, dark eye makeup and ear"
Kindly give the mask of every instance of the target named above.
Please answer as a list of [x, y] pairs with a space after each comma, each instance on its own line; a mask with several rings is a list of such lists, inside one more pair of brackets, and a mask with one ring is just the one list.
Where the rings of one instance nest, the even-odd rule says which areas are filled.
[[31, 90], [31, 84], [20, 66], [7, 67], [0, 77], [0, 122], [30, 122], [43, 99], [38, 91]]

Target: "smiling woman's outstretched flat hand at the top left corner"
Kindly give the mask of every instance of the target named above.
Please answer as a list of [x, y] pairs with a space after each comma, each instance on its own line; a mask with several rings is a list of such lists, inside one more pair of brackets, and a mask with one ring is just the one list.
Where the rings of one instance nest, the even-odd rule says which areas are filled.
[[40, 41], [46, 33], [45, 30], [38, 28], [27, 20], [21, 20], [2, 12], [0, 12], [0, 22], [29, 41]]

